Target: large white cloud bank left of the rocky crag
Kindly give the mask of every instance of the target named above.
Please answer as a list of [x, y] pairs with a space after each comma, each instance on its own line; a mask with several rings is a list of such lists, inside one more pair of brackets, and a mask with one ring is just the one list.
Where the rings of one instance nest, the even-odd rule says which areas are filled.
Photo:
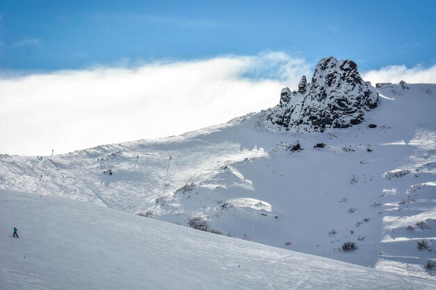
[[274, 106], [309, 65], [281, 52], [0, 78], [0, 152], [182, 134]]

